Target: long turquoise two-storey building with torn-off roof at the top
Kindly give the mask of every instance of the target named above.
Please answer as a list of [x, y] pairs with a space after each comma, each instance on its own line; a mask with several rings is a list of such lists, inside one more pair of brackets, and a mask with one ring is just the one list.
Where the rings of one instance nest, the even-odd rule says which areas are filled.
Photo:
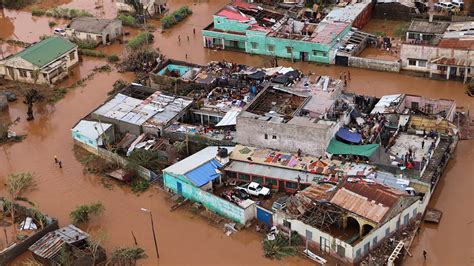
[[204, 47], [330, 64], [350, 29], [350, 22], [299, 21], [236, 1], [219, 10], [202, 33]]

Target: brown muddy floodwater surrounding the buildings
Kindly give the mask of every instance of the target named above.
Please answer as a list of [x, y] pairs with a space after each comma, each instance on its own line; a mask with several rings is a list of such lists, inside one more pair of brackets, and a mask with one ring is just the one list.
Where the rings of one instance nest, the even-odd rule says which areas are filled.
[[[104, 0], [102, 9], [95, 8], [97, 1], [94, 0], [45, 2], [45, 5], [48, 5], [46, 7], [59, 3], [58, 5], [87, 9], [105, 18], [112, 18], [116, 14], [114, 2], [111, 0]], [[262, 66], [266, 61], [262, 56], [214, 51], [202, 47], [200, 29], [207, 26], [211, 22], [212, 14], [227, 2], [169, 0], [171, 11], [186, 4], [193, 9], [194, 14], [170, 30], [165, 32], [157, 30], [154, 33], [153, 46], [159, 48], [168, 58], [185, 60], [188, 54], [188, 61], [198, 64], [206, 64], [212, 60], [228, 60]], [[50, 18], [36, 18], [25, 12], [8, 10], [1, 14], [4, 14], [0, 16], [2, 38], [15, 37], [31, 42], [51, 31], [47, 25]], [[159, 21], [149, 23], [159, 27]], [[197, 31], [195, 36], [192, 33], [193, 28]], [[388, 31], [389, 27], [386, 28], [383, 30]], [[132, 29], [129, 31], [131, 36], [138, 32]], [[101, 49], [107, 53], [120, 54], [123, 46], [112, 45]], [[85, 58], [82, 65], [74, 70], [73, 78], [62, 86], [72, 84], [95, 66], [104, 63], [105, 61]], [[364, 69], [292, 63], [286, 60], [279, 60], [279, 64], [294, 66], [305, 73], [315, 72], [333, 77], [339, 77], [340, 72], [350, 71], [352, 80], [349, 81], [348, 90], [361, 94], [382, 96], [409, 93], [431, 98], [454, 99], [458, 106], [471, 110], [474, 106], [474, 98], [464, 94], [464, 86], [457, 82], [434, 81]], [[136, 196], [124, 187], [114, 186], [112, 190], [106, 189], [99, 184], [100, 177], [84, 174], [82, 165], [76, 161], [72, 152], [70, 129], [106, 99], [107, 92], [117, 79], [131, 81], [133, 76], [116, 72], [96, 74], [85, 87], [69, 92], [55, 105], [55, 108], [42, 108], [43, 112], [37, 113], [33, 122], [25, 121], [24, 104], [17, 102], [11, 105], [3, 115], [13, 119], [20, 117], [21, 122], [14, 130], [27, 133], [28, 137], [21, 143], [0, 147], [0, 178], [19, 171], [33, 172], [38, 181], [38, 189], [28, 193], [27, 197], [38, 202], [42, 211], [57, 217], [61, 225], [69, 223], [68, 214], [75, 206], [101, 201], [106, 211], [103, 216], [93, 221], [92, 226], [107, 231], [108, 239], [105, 247], [111, 251], [116, 247], [132, 246], [133, 231], [139, 246], [145, 248], [149, 255], [148, 259], [139, 261], [141, 265], [312, 265], [310, 261], [301, 258], [281, 261], [265, 259], [260, 237], [251, 230], [227, 237], [220, 227], [211, 226], [204, 219], [189, 212], [184, 210], [169, 212], [169, 203], [165, 200], [167, 195], [161, 191], [151, 189]], [[423, 225], [422, 234], [415, 240], [411, 250], [413, 258], [409, 258], [405, 265], [473, 263], [473, 151], [474, 141], [459, 143], [455, 159], [449, 163], [430, 204], [431, 207], [444, 212], [441, 223], [437, 226]], [[54, 155], [63, 161], [63, 169], [58, 169], [54, 164]], [[5, 193], [3, 187], [0, 188], [0, 195]], [[155, 258], [149, 216], [141, 212], [140, 208], [153, 211], [161, 255], [159, 261]], [[426, 262], [422, 260], [422, 250], [428, 252]], [[18, 263], [21, 265], [21, 262]]]

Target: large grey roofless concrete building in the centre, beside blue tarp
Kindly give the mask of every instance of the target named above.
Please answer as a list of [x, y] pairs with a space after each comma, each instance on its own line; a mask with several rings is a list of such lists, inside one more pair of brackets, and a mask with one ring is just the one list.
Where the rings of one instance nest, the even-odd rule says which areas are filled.
[[305, 77], [293, 87], [270, 85], [237, 117], [237, 142], [315, 156], [324, 155], [342, 126], [335, 113], [340, 81]]

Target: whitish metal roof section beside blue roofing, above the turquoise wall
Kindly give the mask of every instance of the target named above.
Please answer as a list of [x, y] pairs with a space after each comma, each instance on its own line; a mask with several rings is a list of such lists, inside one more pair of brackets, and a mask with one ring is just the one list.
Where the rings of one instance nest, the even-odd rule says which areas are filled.
[[[212, 159], [216, 158], [217, 155], [217, 146], [206, 147], [197, 153], [186, 157], [185, 159], [163, 169], [163, 172], [168, 172], [175, 175], [184, 175], [187, 172], [196, 169], [200, 165], [203, 165], [209, 162]], [[226, 148], [228, 152], [232, 152], [234, 147], [221, 147]]]

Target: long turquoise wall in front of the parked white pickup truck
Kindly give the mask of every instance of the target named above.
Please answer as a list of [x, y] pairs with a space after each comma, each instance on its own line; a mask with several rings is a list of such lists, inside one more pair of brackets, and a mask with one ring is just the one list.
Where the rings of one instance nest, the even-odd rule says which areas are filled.
[[183, 197], [192, 201], [200, 202], [206, 208], [222, 216], [225, 216], [235, 222], [245, 224], [246, 221], [244, 209], [224, 199], [221, 199], [218, 196], [201, 190], [200, 188], [190, 184], [189, 181], [185, 180], [186, 178], [182, 176], [176, 177], [170, 173], [163, 172], [163, 182], [166, 188], [169, 188], [175, 193], [178, 193], [179, 182], [182, 186]]

